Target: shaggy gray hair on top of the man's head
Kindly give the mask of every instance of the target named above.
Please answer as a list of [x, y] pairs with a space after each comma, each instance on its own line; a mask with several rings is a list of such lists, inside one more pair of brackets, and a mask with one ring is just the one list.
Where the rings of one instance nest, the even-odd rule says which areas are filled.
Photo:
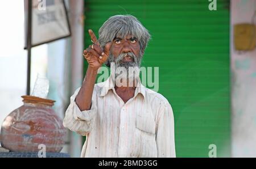
[[114, 40], [115, 37], [122, 39], [129, 35], [136, 37], [141, 47], [141, 53], [144, 53], [147, 43], [151, 38], [148, 30], [132, 15], [115, 15], [110, 17], [100, 28], [98, 35], [98, 42], [102, 48], [105, 47], [106, 43]]

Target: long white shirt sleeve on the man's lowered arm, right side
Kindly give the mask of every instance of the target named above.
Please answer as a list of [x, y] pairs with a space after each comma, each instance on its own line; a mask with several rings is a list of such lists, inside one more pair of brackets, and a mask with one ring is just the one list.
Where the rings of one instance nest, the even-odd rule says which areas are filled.
[[156, 145], [158, 157], [176, 157], [174, 113], [169, 103], [162, 103], [158, 112], [156, 124]]

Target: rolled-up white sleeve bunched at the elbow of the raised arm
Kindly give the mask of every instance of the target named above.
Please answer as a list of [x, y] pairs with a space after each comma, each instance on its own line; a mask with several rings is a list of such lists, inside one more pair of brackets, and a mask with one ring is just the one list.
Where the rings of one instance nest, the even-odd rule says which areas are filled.
[[73, 132], [86, 136], [92, 130], [97, 113], [96, 94], [93, 91], [92, 106], [90, 110], [80, 111], [75, 102], [79, 90], [80, 88], [77, 88], [75, 93], [71, 96], [70, 104], [65, 112], [63, 125]]

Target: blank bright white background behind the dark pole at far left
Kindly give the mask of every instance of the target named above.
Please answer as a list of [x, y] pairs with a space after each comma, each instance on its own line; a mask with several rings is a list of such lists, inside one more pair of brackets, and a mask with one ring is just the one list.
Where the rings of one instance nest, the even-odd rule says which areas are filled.
[[[13, 9], [13, 10], [10, 10]], [[15, 12], [14, 12], [15, 11]], [[11, 111], [23, 105], [26, 95], [27, 50], [24, 50], [23, 1], [0, 2], [0, 126]], [[36, 74], [45, 74], [47, 45], [32, 49], [31, 90]]]

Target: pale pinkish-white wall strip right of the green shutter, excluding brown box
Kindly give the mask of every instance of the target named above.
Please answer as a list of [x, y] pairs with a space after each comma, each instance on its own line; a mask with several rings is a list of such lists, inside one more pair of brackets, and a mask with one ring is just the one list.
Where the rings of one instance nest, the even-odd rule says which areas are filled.
[[234, 24], [251, 23], [255, 5], [256, 0], [231, 1], [232, 157], [256, 157], [256, 49], [239, 53], [233, 45]]

